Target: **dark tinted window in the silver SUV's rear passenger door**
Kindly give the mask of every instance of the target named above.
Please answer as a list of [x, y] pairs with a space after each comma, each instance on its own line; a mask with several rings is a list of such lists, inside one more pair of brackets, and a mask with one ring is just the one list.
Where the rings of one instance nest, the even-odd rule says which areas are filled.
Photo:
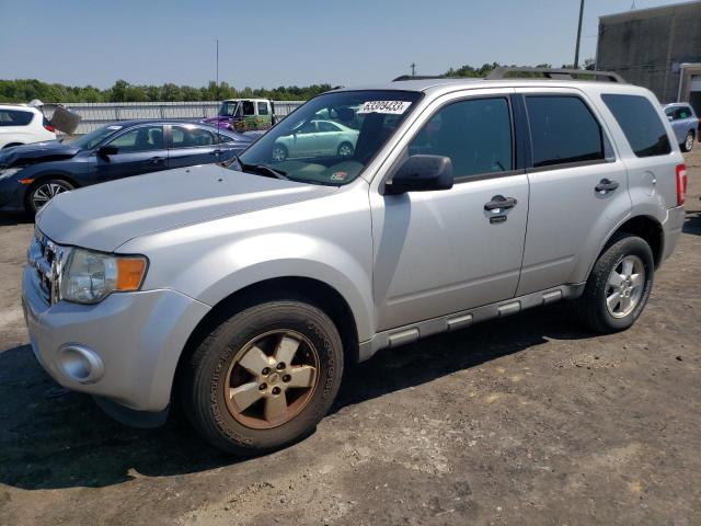
[[605, 159], [597, 119], [577, 96], [526, 96], [533, 168]]

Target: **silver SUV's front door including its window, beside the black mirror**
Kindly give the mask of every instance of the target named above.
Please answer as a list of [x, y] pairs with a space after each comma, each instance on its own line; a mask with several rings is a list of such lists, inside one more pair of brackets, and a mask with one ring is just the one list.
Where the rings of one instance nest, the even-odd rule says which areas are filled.
[[[508, 299], [518, 285], [528, 180], [516, 170], [509, 94], [449, 100], [405, 156], [449, 157], [453, 187], [370, 197], [378, 331]], [[513, 206], [494, 207], [501, 198]]]

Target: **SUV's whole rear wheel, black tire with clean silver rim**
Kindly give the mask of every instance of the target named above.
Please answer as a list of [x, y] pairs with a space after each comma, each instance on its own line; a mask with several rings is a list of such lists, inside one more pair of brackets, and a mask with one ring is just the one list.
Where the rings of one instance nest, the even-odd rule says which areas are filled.
[[577, 300], [583, 324], [599, 333], [631, 327], [647, 304], [654, 273], [647, 242], [630, 233], [617, 235], [597, 260]]

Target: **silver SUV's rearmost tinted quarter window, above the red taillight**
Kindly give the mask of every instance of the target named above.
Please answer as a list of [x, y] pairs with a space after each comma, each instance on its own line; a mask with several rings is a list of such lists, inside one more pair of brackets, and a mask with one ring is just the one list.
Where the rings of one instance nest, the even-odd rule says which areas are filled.
[[644, 96], [601, 95], [637, 157], [666, 156], [671, 151], [659, 115]]

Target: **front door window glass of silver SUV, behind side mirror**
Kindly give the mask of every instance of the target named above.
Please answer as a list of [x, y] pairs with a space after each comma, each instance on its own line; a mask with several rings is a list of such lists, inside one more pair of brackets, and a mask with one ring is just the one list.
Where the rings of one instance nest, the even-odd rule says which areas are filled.
[[513, 169], [506, 99], [473, 99], [443, 107], [409, 145], [409, 155], [449, 157], [456, 178]]

